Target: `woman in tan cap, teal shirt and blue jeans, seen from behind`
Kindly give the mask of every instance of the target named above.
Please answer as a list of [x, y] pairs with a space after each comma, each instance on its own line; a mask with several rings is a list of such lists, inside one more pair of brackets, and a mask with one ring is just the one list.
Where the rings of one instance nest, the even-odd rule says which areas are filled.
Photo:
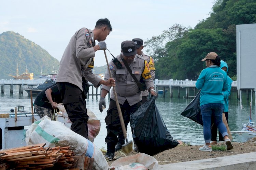
[[203, 69], [196, 82], [196, 88], [200, 92], [200, 109], [203, 120], [203, 136], [205, 145], [200, 151], [212, 151], [211, 142], [211, 117], [225, 139], [227, 150], [233, 149], [228, 138], [227, 128], [222, 122], [224, 104], [223, 91], [228, 90], [229, 84], [227, 73], [220, 68], [221, 59], [215, 52], [209, 52], [202, 61], [205, 61], [207, 68]]

